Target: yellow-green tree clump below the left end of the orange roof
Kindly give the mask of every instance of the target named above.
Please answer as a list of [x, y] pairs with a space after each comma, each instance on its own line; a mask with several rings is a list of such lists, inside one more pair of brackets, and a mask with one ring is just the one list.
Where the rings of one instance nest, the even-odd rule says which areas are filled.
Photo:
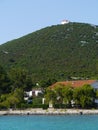
[[54, 88], [48, 88], [46, 90], [46, 99], [51, 101], [53, 104], [62, 106], [62, 104], [71, 105], [71, 100], [73, 97], [73, 90], [69, 86], [64, 86], [58, 84]]

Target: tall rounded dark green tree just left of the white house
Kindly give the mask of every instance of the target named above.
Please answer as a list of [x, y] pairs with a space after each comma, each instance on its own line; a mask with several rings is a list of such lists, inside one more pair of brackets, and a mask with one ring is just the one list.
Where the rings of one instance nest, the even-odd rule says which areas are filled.
[[12, 91], [16, 88], [22, 88], [23, 90], [32, 89], [32, 80], [25, 69], [12, 69], [9, 72], [9, 77], [12, 82]]

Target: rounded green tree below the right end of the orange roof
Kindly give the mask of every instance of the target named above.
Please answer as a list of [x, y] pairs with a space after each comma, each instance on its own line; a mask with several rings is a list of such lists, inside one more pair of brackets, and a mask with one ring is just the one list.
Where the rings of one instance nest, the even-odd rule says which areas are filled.
[[91, 107], [93, 105], [95, 95], [95, 91], [90, 85], [75, 88], [73, 92], [75, 104], [80, 105], [82, 108]]

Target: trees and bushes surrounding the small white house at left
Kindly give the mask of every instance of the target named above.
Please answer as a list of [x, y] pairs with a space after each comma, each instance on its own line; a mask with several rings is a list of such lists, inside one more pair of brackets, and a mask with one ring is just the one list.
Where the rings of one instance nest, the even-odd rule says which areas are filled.
[[30, 97], [28, 101], [25, 101], [25, 92], [40, 87], [45, 90], [45, 88], [54, 82], [54, 80], [49, 79], [48, 81], [40, 82], [38, 86], [33, 82], [32, 76], [29, 75], [27, 70], [14, 68], [7, 72], [0, 66], [0, 110], [45, 106], [42, 104], [43, 94], [37, 97]]

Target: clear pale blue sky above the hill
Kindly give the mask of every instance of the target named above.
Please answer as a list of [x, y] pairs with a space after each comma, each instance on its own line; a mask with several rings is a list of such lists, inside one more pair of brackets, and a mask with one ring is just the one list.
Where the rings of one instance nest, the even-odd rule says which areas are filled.
[[0, 0], [0, 44], [63, 19], [98, 25], [98, 0]]

